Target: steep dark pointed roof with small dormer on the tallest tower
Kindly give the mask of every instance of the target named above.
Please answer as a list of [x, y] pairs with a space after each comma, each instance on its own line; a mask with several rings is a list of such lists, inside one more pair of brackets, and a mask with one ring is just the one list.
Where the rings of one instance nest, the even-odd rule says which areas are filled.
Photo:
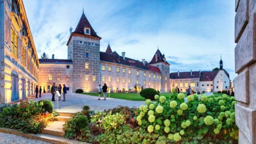
[[81, 18], [80, 18], [80, 20], [79, 20], [77, 26], [76, 26], [76, 30], [74, 31], [74, 33], [85, 34], [85, 33], [84, 33], [84, 27], [90, 28], [90, 35], [91, 35], [91, 36], [100, 38], [100, 37], [96, 34], [96, 32], [93, 30], [91, 24], [89, 23], [88, 19], [85, 17], [84, 11], [83, 11], [83, 14], [82, 14], [82, 16], [81, 16]]

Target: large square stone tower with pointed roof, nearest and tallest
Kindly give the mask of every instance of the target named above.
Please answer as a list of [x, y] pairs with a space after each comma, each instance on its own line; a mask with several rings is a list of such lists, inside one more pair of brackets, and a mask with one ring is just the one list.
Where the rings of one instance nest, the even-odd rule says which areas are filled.
[[83, 11], [76, 29], [70, 34], [67, 43], [68, 59], [73, 61], [73, 72], [69, 76], [70, 81], [73, 81], [73, 92], [77, 89], [82, 89], [85, 92], [98, 89], [97, 86], [100, 84], [100, 39]]

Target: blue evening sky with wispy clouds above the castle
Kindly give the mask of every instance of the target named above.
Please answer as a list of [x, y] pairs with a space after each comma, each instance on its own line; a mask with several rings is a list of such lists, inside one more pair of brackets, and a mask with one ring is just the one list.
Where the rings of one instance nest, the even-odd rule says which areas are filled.
[[230, 0], [23, 0], [37, 54], [67, 59], [69, 28], [84, 14], [112, 51], [150, 61], [157, 47], [170, 72], [223, 68], [236, 76], [235, 2]]

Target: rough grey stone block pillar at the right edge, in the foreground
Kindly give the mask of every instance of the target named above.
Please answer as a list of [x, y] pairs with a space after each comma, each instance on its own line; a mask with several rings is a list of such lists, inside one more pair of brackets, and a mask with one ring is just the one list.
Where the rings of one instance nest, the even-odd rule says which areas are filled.
[[239, 143], [256, 143], [256, 0], [236, 0], [234, 80]]

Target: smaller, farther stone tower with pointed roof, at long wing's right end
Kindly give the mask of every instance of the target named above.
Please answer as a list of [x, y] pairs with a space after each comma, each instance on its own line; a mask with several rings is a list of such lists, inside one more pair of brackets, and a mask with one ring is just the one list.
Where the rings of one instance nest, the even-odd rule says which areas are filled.
[[158, 48], [149, 64], [158, 67], [162, 73], [160, 92], [168, 92], [170, 90], [170, 64], [166, 61], [164, 54], [162, 55]]

